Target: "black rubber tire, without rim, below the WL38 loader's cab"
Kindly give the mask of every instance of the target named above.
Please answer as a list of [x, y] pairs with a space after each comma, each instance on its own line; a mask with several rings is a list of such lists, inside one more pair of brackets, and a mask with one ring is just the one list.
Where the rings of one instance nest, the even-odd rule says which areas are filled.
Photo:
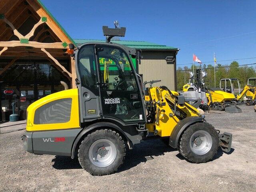
[[[98, 167], [92, 164], [89, 158], [89, 149], [92, 144], [100, 139], [110, 140], [116, 147], [116, 157], [114, 161], [106, 167]], [[80, 144], [78, 150], [78, 160], [82, 168], [92, 175], [108, 175], [115, 172], [121, 164], [123, 164], [126, 148], [124, 140], [122, 137], [115, 131], [105, 129], [105, 130], [96, 130], [91, 134], [88, 134]]]

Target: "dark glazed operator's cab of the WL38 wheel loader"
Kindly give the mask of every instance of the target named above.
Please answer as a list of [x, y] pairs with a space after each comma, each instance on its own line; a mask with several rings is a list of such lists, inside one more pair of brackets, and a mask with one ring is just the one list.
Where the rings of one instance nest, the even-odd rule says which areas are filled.
[[131, 57], [136, 51], [111, 43], [78, 47], [76, 84], [81, 123], [108, 119], [120, 124], [145, 122], [142, 90]]

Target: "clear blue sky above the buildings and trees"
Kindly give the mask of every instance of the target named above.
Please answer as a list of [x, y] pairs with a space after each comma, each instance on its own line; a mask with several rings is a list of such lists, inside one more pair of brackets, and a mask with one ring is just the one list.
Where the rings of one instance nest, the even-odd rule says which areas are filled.
[[[126, 36], [121, 40], [180, 48], [179, 66], [191, 63], [192, 53], [203, 63], [212, 61], [213, 52], [217, 61], [255, 57], [238, 62], [256, 63], [255, 0], [41, 1], [72, 38], [104, 39], [102, 26], [113, 27], [113, 21], [118, 20], [120, 26], [126, 27]], [[235, 37], [225, 38], [228, 36]], [[220, 38], [224, 39], [215, 40]], [[205, 43], [194, 44], [198, 42]]]

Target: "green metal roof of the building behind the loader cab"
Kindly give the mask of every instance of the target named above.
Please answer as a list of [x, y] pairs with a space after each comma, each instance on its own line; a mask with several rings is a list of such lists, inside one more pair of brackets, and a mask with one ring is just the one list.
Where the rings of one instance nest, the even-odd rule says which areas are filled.
[[[76, 44], [79, 46], [81, 44], [87, 42], [106, 42], [105, 40], [93, 40], [93, 39], [74, 39]], [[111, 40], [113, 43], [122, 44], [128, 47], [136, 48], [136, 49], [144, 49], [144, 50], [178, 50], [178, 48], [174, 48], [166, 45], [159, 45], [146, 41], [121, 41], [121, 40]]]

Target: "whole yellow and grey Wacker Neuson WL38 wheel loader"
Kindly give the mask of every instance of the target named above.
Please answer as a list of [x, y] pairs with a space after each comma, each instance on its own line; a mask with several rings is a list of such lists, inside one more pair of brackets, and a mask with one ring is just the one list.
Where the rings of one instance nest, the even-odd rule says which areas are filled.
[[[27, 108], [24, 148], [34, 154], [78, 158], [92, 175], [115, 172], [126, 148], [141, 140], [168, 138], [193, 163], [211, 160], [220, 146], [230, 151], [232, 134], [214, 129], [184, 96], [165, 86], [141, 88], [132, 65], [140, 54], [110, 43], [125, 28], [103, 27], [106, 43], [88, 42], [74, 50], [78, 88], [50, 94]], [[99, 64], [104, 58], [106, 63]], [[112, 64], [111, 64], [112, 63]], [[143, 85], [147, 86], [147, 82]]]

